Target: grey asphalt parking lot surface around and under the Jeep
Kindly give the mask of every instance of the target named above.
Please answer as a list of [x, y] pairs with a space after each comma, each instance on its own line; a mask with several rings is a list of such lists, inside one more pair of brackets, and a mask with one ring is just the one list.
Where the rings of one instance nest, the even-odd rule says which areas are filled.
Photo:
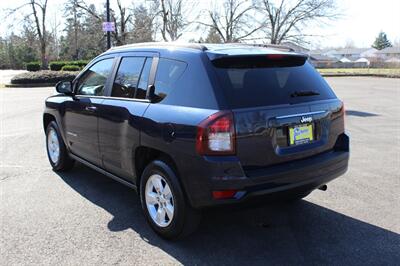
[[2, 265], [398, 265], [400, 79], [328, 78], [346, 105], [346, 175], [298, 203], [208, 211], [180, 242], [158, 238], [135, 192], [47, 161], [52, 88], [0, 88]]

